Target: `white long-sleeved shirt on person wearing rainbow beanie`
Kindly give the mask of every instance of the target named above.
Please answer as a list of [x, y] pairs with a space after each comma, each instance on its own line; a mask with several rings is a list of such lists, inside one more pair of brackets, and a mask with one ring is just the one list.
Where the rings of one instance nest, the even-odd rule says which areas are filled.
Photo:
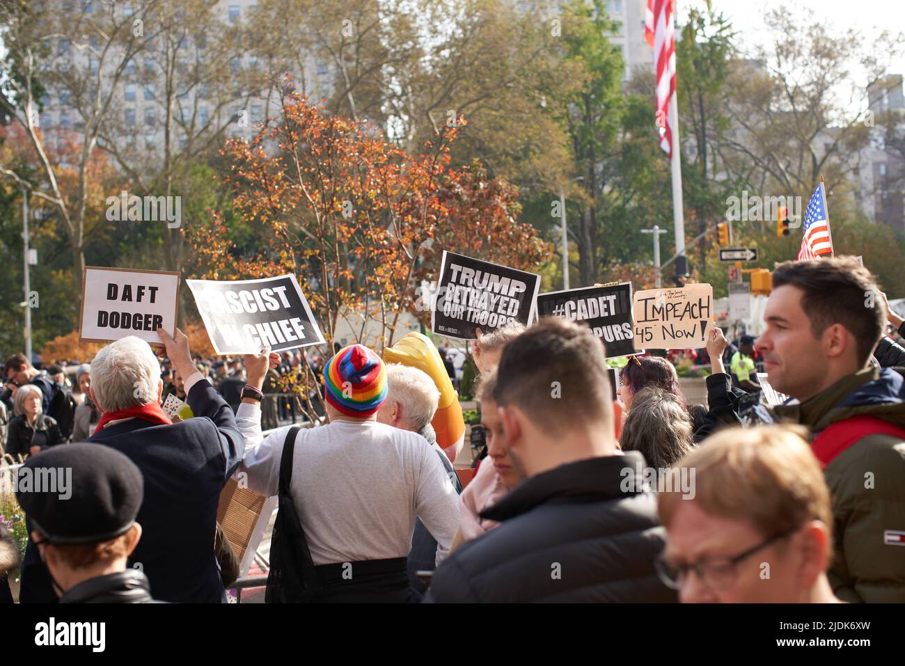
[[[245, 438], [248, 487], [276, 495], [289, 426], [267, 438], [261, 409], [243, 403], [236, 423]], [[415, 516], [437, 540], [437, 564], [459, 525], [458, 495], [421, 435], [376, 421], [334, 421], [299, 431], [290, 485], [316, 566], [405, 557]]]

